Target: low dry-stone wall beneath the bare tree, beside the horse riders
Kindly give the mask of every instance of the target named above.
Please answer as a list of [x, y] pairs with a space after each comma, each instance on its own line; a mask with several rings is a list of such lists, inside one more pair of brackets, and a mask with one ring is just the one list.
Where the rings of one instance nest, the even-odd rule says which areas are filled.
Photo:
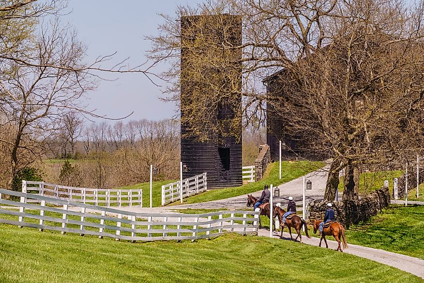
[[[323, 220], [327, 203], [315, 200], [309, 204], [309, 220]], [[336, 220], [346, 228], [351, 224], [367, 221], [371, 216], [377, 215], [383, 208], [390, 204], [388, 187], [382, 187], [366, 197], [355, 201], [332, 202]]]

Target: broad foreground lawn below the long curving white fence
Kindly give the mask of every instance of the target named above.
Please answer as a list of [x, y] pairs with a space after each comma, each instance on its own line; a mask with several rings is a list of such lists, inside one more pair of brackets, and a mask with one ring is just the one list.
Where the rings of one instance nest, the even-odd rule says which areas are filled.
[[2, 282], [421, 282], [368, 259], [264, 237], [129, 243], [10, 225], [0, 231]]

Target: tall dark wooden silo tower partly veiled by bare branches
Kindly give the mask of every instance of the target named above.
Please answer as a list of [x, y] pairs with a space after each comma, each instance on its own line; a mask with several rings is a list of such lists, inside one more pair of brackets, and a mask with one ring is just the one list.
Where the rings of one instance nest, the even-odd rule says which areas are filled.
[[241, 50], [223, 48], [241, 45], [241, 17], [183, 17], [181, 45], [183, 178], [206, 172], [208, 188], [241, 185]]

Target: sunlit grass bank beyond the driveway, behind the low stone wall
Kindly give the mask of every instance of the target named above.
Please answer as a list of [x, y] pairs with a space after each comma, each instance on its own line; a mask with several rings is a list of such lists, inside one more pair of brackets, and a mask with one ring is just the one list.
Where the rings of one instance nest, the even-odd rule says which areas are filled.
[[[403, 174], [401, 170], [393, 171], [377, 171], [377, 172], [364, 172], [359, 175], [359, 193], [367, 195], [372, 191], [378, 190], [384, 184], [384, 180], [389, 181], [390, 195], [393, 195], [393, 178], [399, 178]], [[416, 176], [410, 176], [416, 178]], [[340, 178], [339, 192], [343, 192], [344, 182], [343, 177]], [[418, 186], [419, 195], [416, 198], [416, 187], [408, 188], [409, 201], [424, 201], [424, 183]]]

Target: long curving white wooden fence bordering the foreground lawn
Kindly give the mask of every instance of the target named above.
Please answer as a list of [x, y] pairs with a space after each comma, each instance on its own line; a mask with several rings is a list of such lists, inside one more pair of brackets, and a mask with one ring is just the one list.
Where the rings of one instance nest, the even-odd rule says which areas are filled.
[[[5, 195], [18, 197], [20, 202], [8, 200], [11, 198]], [[258, 214], [253, 211], [135, 213], [0, 189], [0, 223], [116, 240], [196, 240], [228, 232], [257, 234]]]

